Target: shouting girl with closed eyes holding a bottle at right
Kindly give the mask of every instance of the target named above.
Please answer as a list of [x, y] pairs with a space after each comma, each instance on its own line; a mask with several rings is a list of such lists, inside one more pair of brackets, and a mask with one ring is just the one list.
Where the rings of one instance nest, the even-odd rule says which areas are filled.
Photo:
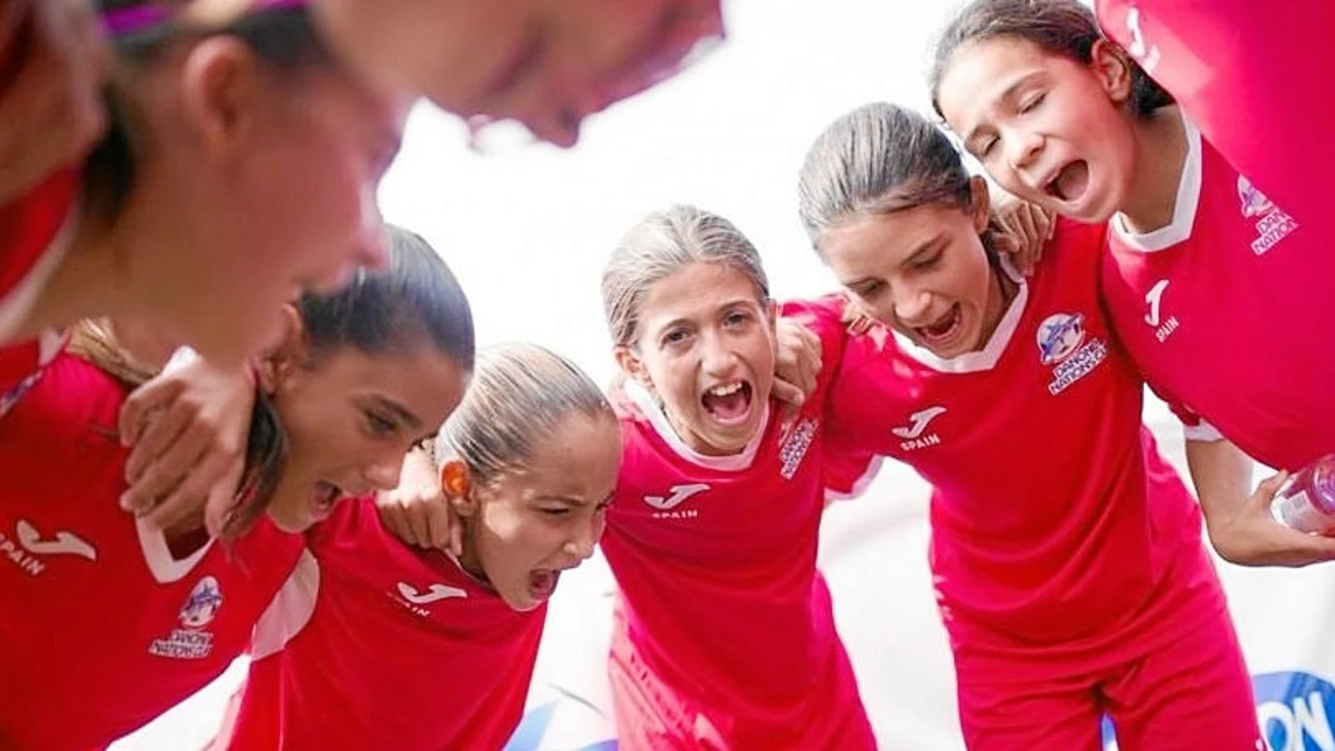
[[1335, 556], [1270, 516], [1278, 478], [1248, 499], [1248, 455], [1296, 471], [1335, 451], [1335, 352], [1319, 344], [1335, 297], [1318, 283], [1335, 255], [1320, 227], [1239, 175], [1073, 0], [977, 0], [936, 59], [937, 109], [993, 179], [1108, 224], [1104, 299], [1147, 382], [1195, 426], [1216, 550], [1251, 564]]

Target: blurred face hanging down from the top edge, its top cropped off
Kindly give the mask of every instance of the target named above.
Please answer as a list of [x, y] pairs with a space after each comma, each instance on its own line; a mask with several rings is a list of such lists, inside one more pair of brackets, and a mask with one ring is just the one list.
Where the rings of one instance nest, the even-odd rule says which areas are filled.
[[583, 117], [670, 77], [722, 39], [720, 0], [319, 0], [359, 69], [474, 127], [523, 123], [573, 145]]

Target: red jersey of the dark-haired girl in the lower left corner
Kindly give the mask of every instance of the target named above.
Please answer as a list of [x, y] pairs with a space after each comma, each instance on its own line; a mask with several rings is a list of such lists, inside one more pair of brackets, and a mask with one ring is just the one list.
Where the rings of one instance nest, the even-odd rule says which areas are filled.
[[186, 699], [246, 650], [300, 551], [264, 519], [180, 556], [121, 511], [124, 396], [61, 353], [0, 418], [0, 748], [99, 748]]

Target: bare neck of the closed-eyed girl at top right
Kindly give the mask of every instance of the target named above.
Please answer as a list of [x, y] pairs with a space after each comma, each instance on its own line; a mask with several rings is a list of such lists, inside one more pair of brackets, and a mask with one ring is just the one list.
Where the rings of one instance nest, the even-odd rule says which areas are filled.
[[1161, 107], [1137, 121], [1135, 179], [1121, 205], [1132, 232], [1144, 235], [1172, 223], [1187, 152], [1187, 133], [1176, 107]]

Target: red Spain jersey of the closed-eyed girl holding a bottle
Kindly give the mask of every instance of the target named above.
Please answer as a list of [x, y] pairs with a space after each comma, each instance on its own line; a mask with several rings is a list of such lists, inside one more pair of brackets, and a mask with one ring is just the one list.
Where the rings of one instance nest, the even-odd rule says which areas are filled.
[[1335, 252], [1187, 129], [1172, 223], [1133, 235], [1113, 217], [1104, 296], [1184, 422], [1296, 470], [1335, 451]]

